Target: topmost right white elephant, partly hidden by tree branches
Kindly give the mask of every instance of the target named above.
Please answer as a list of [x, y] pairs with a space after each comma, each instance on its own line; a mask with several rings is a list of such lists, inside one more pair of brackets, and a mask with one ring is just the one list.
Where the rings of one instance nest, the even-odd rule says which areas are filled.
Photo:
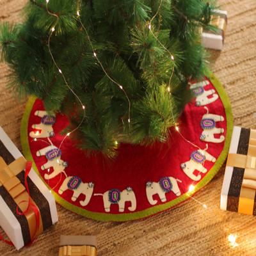
[[[209, 81], [205, 80], [199, 83], [191, 84], [190, 89], [196, 96], [196, 106], [205, 106], [217, 100], [219, 98], [218, 94], [214, 89], [204, 90], [204, 86], [209, 84]], [[211, 97], [209, 97], [211, 96]]]

